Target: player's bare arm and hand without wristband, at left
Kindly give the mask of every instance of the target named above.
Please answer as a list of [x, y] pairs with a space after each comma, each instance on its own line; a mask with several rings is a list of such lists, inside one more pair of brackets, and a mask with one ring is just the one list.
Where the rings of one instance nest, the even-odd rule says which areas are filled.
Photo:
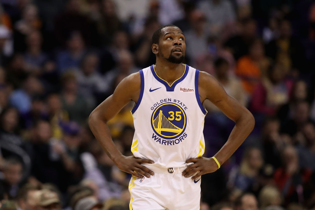
[[[130, 101], [137, 102], [140, 95], [140, 73], [134, 73], [123, 79], [113, 95], [106, 98], [96, 107], [89, 116], [89, 126], [96, 139], [100, 142], [106, 154], [113, 160], [116, 166], [131, 173], [138, 178], [142, 175], [150, 177], [153, 172], [142, 166], [141, 163], [153, 163], [152, 160], [139, 159], [133, 156], [126, 157], [116, 148], [112, 141], [107, 121], [112, 119]], [[131, 140], [130, 140], [131, 141]], [[142, 174], [137, 174], [136, 172]]]

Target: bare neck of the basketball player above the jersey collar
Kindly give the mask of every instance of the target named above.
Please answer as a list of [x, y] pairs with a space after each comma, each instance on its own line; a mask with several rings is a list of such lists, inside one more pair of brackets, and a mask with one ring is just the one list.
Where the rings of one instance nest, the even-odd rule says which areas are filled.
[[154, 70], [160, 78], [164, 79], [170, 85], [183, 75], [185, 65], [183, 65], [183, 63], [171, 63], [165, 60], [162, 61], [157, 58]]

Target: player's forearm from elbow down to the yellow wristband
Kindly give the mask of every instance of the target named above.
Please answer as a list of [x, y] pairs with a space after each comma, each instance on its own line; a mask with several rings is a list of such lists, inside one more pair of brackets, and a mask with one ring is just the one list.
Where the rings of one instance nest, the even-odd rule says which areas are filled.
[[220, 165], [229, 159], [236, 149], [238, 149], [238, 147], [253, 130], [254, 125], [254, 117], [249, 111], [236, 121], [235, 126], [226, 143], [219, 150], [219, 152], [215, 154], [215, 157], [219, 161]]

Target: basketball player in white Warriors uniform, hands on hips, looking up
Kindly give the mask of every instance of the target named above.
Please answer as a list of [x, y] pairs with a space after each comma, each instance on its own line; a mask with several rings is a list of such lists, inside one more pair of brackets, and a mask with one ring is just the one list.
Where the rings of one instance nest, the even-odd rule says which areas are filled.
[[[254, 127], [252, 114], [213, 76], [182, 63], [185, 50], [180, 28], [159, 28], [152, 36], [156, 64], [123, 79], [90, 114], [90, 128], [107, 155], [120, 170], [132, 174], [130, 209], [199, 209], [201, 175], [220, 168]], [[206, 99], [235, 122], [212, 158], [202, 157]], [[133, 156], [126, 157], [112, 142], [106, 122], [130, 100], [135, 102], [135, 135]]]

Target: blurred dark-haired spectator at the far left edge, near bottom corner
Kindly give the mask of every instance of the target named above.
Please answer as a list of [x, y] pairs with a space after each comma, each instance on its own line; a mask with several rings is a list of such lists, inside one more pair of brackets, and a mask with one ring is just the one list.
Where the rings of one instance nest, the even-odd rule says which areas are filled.
[[18, 194], [19, 184], [22, 179], [22, 163], [15, 158], [5, 160], [3, 166], [4, 178], [0, 180], [0, 197], [2, 199], [12, 199]]

